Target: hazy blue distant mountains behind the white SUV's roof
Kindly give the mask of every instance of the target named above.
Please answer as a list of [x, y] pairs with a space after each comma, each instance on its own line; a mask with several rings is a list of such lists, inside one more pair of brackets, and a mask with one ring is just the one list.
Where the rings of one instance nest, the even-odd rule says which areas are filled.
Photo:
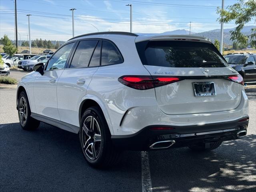
[[[250, 32], [251, 28], [256, 28], [256, 26], [245, 26], [242, 29], [242, 33], [245, 34], [245, 35], [250, 35], [251, 34], [251, 32]], [[224, 42], [224, 44], [232, 45], [232, 40], [230, 40], [230, 38], [231, 38], [230, 31], [232, 31], [234, 29], [235, 28], [224, 29], [224, 32], [223, 32], [223, 42]], [[164, 32], [164, 34], [188, 35], [189, 31], [188, 30], [174, 30], [174, 31]], [[191, 34], [196, 35], [196, 36], [202, 36], [202, 37], [209, 38], [210, 40], [212, 40], [212, 42], [214, 42], [215, 39], [220, 41], [220, 29], [214, 29], [214, 30], [205, 31], [205, 32], [201, 32], [201, 33], [191, 32]]]

